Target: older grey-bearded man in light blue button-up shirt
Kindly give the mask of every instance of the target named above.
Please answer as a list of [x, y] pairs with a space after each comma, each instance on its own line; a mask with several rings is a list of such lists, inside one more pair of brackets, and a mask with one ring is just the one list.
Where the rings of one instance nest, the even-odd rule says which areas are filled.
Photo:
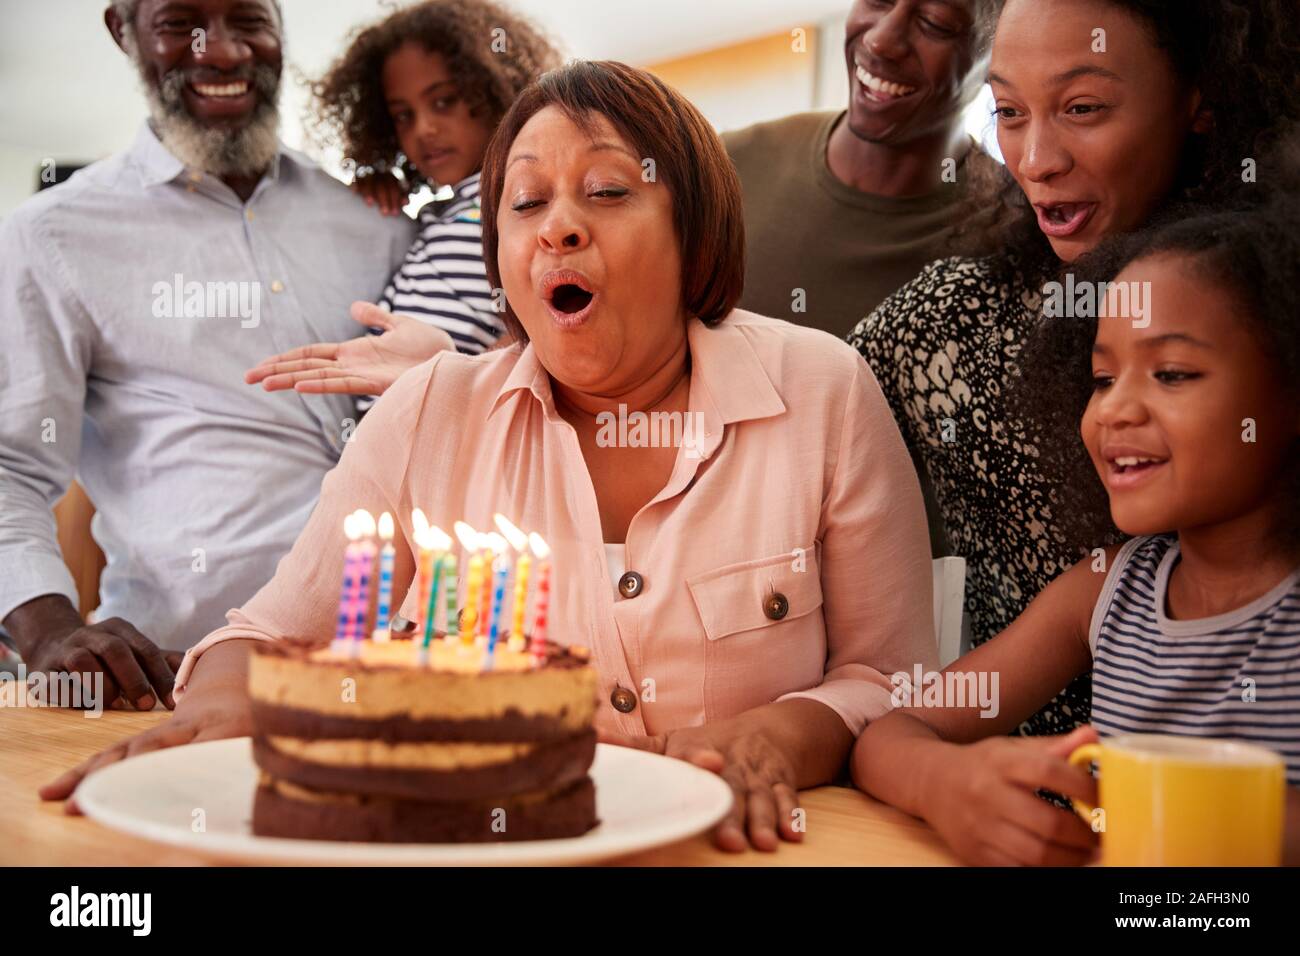
[[[0, 228], [0, 620], [29, 670], [170, 705], [178, 653], [272, 578], [355, 419], [243, 372], [360, 332], [413, 237], [277, 137], [273, 0], [114, 0], [150, 120]], [[51, 507], [73, 477], [108, 566], [83, 622]]]

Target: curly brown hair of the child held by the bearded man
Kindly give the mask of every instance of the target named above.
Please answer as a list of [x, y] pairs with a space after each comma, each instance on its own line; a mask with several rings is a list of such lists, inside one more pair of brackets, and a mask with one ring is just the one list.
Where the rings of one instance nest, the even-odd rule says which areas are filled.
[[[504, 39], [504, 52], [493, 51], [494, 38]], [[465, 103], [486, 113], [493, 127], [524, 87], [560, 62], [537, 26], [490, 0], [425, 0], [359, 29], [312, 83], [308, 129], [322, 146], [339, 144], [356, 172], [400, 172], [412, 187], [425, 179], [402, 153], [381, 79], [385, 60], [412, 42], [442, 55]]]

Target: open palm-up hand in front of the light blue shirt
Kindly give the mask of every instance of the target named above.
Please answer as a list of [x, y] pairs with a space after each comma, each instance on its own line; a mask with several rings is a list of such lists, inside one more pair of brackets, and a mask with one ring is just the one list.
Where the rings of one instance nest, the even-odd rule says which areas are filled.
[[410, 368], [439, 351], [455, 349], [442, 329], [407, 315], [386, 312], [369, 302], [352, 303], [352, 319], [380, 336], [361, 336], [347, 342], [321, 342], [272, 355], [248, 369], [244, 381], [261, 382], [266, 392], [334, 392], [350, 395], [382, 395]]

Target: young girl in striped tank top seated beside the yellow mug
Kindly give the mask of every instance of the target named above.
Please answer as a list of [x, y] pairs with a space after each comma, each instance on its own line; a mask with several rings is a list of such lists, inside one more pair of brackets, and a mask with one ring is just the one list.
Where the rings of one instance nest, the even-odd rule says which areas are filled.
[[[1098, 734], [1157, 732], [1280, 754], [1283, 856], [1300, 862], [1297, 222], [1287, 196], [1117, 238], [1074, 267], [1075, 290], [1109, 303], [1100, 321], [1045, 319], [1028, 343], [1019, 388], [1061, 446], [1039, 450], [1054, 503], [1092, 515], [1092, 540], [1132, 537], [1057, 578], [853, 754], [859, 787], [967, 861], [1089, 860], [1096, 835], [1037, 792], [1095, 805], [1066, 757]], [[1089, 669], [1091, 727], [1002, 736]], [[958, 685], [980, 692], [945, 700]]]

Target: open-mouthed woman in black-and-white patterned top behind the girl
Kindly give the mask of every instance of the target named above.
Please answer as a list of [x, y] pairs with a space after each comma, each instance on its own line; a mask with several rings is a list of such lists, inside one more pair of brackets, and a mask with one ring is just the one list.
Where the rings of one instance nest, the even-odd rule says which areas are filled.
[[[1249, 191], [1274, 174], [1269, 140], [1300, 118], [1300, 25], [1280, 0], [989, 7], [1006, 169], [958, 220], [972, 250], [1005, 252], [931, 264], [849, 336], [967, 561], [974, 645], [1015, 620], [1080, 548], [1104, 544], [1061, 531], [1036, 436], [1006, 397], [1045, 286], [1175, 202]], [[1070, 731], [1089, 702], [1084, 675], [1020, 730]]]

